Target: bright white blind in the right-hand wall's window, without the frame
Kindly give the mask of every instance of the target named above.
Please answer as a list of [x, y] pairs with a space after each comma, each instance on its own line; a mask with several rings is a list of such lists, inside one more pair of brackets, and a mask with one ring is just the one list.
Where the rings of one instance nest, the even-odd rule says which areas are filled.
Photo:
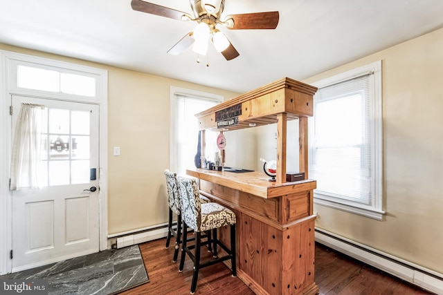
[[321, 88], [315, 103], [310, 175], [317, 192], [370, 204], [368, 75]]

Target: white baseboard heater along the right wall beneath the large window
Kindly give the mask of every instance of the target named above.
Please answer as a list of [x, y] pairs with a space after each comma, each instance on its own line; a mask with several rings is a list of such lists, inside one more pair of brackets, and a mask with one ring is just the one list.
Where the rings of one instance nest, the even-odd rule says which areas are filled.
[[316, 228], [316, 242], [397, 276], [435, 294], [443, 294], [443, 274], [415, 265], [377, 249], [359, 244], [329, 231]]

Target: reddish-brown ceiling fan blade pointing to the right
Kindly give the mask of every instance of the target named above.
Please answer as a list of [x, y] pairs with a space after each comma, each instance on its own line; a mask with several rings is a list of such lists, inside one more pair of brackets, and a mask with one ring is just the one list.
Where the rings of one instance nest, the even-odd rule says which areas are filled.
[[[279, 18], [278, 11], [270, 11], [229, 15], [226, 20], [228, 21], [228, 28], [231, 30], [275, 29]], [[229, 26], [230, 19], [233, 20], [231, 26]]]

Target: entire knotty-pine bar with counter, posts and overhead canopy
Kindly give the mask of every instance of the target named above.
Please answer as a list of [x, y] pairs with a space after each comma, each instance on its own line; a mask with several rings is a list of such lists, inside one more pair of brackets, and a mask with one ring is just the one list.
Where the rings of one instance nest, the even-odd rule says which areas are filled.
[[[187, 171], [200, 179], [202, 194], [235, 211], [237, 275], [255, 294], [318, 294], [314, 281], [316, 181], [309, 180], [307, 171], [307, 117], [313, 115], [316, 91], [284, 78], [196, 115], [202, 133], [201, 155], [208, 129], [223, 132], [277, 126], [275, 182], [256, 171]], [[305, 173], [305, 180], [296, 182], [286, 180], [288, 120], [299, 120], [299, 171]], [[219, 236], [228, 238], [228, 229]]]

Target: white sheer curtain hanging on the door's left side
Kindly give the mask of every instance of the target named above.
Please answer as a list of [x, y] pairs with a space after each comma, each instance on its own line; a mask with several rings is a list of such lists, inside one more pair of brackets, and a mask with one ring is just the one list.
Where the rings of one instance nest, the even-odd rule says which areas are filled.
[[39, 187], [37, 165], [42, 151], [43, 110], [39, 104], [21, 104], [12, 145], [12, 191]]

